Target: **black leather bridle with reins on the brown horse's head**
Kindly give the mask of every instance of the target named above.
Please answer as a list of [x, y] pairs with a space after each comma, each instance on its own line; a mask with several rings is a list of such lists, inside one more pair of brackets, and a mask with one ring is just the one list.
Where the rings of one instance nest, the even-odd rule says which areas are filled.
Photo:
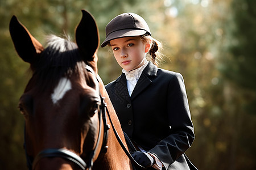
[[[98, 80], [97, 75], [96, 75], [96, 73], [94, 73], [92, 67], [86, 65], [85, 69], [87, 71], [89, 71], [90, 73], [92, 73], [96, 77], [96, 79]], [[98, 82], [99, 82], [99, 80], [98, 80]], [[108, 121], [107, 121], [107, 118], [106, 118], [106, 113], [108, 113], [110, 124], [112, 125], [115, 137], [117, 138], [117, 140], [118, 140], [119, 144], [121, 145], [123, 151], [125, 151], [126, 155], [129, 157], [131, 162], [136, 167], [139, 167], [141, 169], [146, 169], [146, 168], [142, 167], [141, 165], [139, 165], [134, 160], [133, 156], [131, 156], [130, 152], [127, 151], [125, 145], [123, 144], [121, 138], [119, 137], [117, 131], [114, 128], [113, 122], [110, 118], [108, 108], [106, 107], [106, 103], [104, 101], [104, 97], [101, 96], [100, 91], [99, 91], [99, 95], [100, 95], [100, 99], [101, 99], [101, 104], [99, 106], [99, 111], [98, 111], [98, 119], [99, 119], [100, 127], [99, 127], [99, 133], [98, 133], [98, 139], [97, 139], [96, 147], [92, 151], [90, 151], [88, 162], [85, 163], [85, 161], [79, 155], [75, 154], [75, 152], [69, 151], [69, 150], [64, 149], [64, 148], [46, 148], [46, 149], [40, 151], [39, 154], [35, 156], [35, 158], [32, 158], [31, 156], [28, 156], [27, 147], [26, 147], [26, 127], [24, 127], [24, 150], [25, 150], [25, 153], [26, 153], [28, 169], [30, 169], [30, 170], [34, 169], [36, 164], [42, 158], [53, 158], [53, 157], [64, 158], [66, 160], [70, 160], [71, 162], [75, 163], [77, 165], [77, 167], [79, 167], [83, 170], [92, 169], [93, 160], [94, 160], [94, 156], [96, 154], [96, 151], [99, 148], [101, 148], [100, 152], [106, 152], [108, 150], [108, 146], [106, 146], [106, 142], [108, 141], [108, 134], [109, 134], [110, 125], [108, 124]], [[103, 131], [102, 131], [102, 126], [103, 126], [103, 129], [104, 129]], [[102, 135], [102, 133], [103, 133], [103, 135]], [[102, 142], [102, 145], [100, 146], [101, 137], [103, 138], [102, 139], [103, 142]]]

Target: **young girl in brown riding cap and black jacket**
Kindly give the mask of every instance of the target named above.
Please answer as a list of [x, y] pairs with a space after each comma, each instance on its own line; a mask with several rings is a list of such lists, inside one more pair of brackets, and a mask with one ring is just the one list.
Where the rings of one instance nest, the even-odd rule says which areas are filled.
[[106, 90], [138, 148], [134, 159], [150, 169], [196, 169], [184, 154], [195, 135], [183, 77], [157, 67], [159, 42], [145, 20], [134, 13], [116, 16], [106, 25], [101, 47], [106, 45], [123, 69]]

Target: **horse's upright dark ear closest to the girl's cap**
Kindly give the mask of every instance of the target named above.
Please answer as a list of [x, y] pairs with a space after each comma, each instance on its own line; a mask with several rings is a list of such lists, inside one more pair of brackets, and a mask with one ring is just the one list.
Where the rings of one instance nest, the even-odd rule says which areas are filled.
[[86, 61], [93, 61], [99, 42], [98, 27], [93, 16], [82, 10], [82, 19], [76, 28], [76, 43]]

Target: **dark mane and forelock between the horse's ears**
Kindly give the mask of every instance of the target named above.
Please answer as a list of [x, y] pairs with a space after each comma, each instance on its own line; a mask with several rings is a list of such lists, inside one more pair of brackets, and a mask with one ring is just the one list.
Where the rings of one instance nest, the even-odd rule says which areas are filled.
[[84, 70], [85, 63], [75, 42], [55, 35], [48, 36], [46, 42], [47, 48], [31, 64], [33, 75], [26, 90], [30, 87], [39, 87], [38, 91], [52, 90], [60, 78], [73, 73], [80, 76]]

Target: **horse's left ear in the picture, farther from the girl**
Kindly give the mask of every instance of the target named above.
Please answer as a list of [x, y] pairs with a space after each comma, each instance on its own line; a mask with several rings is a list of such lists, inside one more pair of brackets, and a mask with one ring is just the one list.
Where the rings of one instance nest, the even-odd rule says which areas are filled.
[[16, 16], [11, 18], [9, 30], [16, 52], [24, 61], [32, 63], [35, 56], [44, 50], [40, 42], [30, 34]]

